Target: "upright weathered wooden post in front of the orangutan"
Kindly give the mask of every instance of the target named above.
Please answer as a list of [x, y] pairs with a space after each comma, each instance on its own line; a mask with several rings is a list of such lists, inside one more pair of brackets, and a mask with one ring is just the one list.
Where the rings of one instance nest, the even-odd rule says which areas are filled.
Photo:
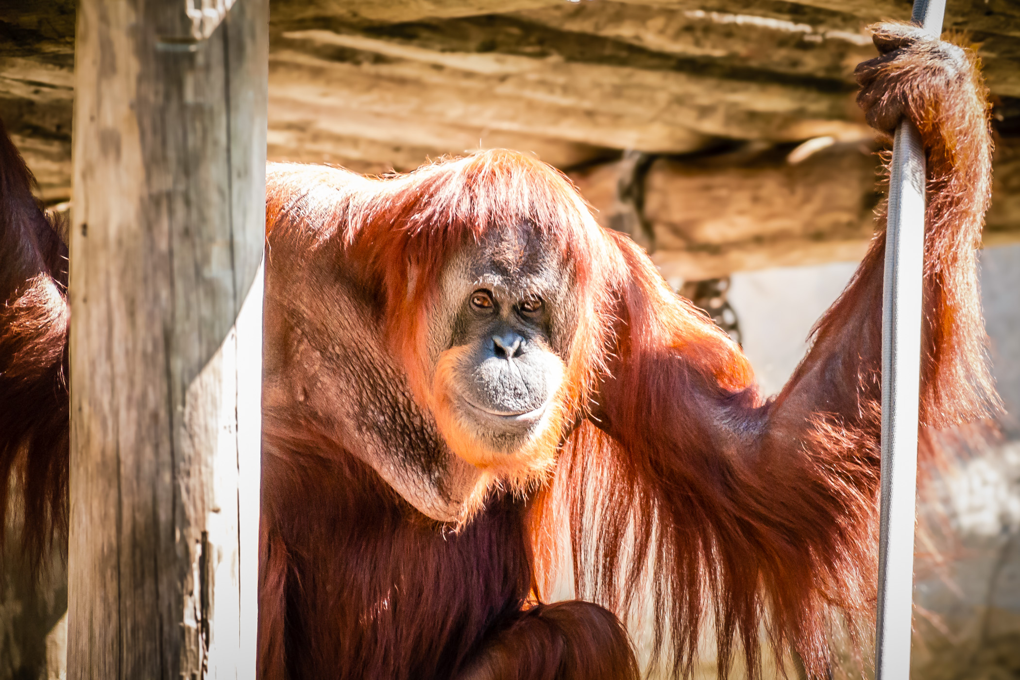
[[267, 0], [80, 3], [75, 680], [255, 675], [267, 20]]

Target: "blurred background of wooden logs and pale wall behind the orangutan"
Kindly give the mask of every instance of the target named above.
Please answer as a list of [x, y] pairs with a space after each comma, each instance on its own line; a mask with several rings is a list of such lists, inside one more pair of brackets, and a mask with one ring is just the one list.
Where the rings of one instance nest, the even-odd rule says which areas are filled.
[[[882, 142], [854, 104], [852, 72], [876, 54], [866, 27], [910, 7], [274, 0], [268, 155], [385, 173], [478, 148], [531, 152], [744, 345], [771, 394], [869, 243]], [[73, 0], [0, 0], [0, 118], [55, 210], [70, 201], [74, 20]], [[949, 0], [946, 27], [977, 48], [994, 104], [981, 282], [1015, 414], [1020, 3]], [[918, 678], [1020, 678], [1020, 425], [999, 424], [1003, 438], [969, 452], [921, 506], [932, 530], [918, 542]], [[17, 569], [0, 576], [0, 680], [61, 677], [55, 564], [38, 596]], [[705, 649], [699, 673], [714, 677]]]

